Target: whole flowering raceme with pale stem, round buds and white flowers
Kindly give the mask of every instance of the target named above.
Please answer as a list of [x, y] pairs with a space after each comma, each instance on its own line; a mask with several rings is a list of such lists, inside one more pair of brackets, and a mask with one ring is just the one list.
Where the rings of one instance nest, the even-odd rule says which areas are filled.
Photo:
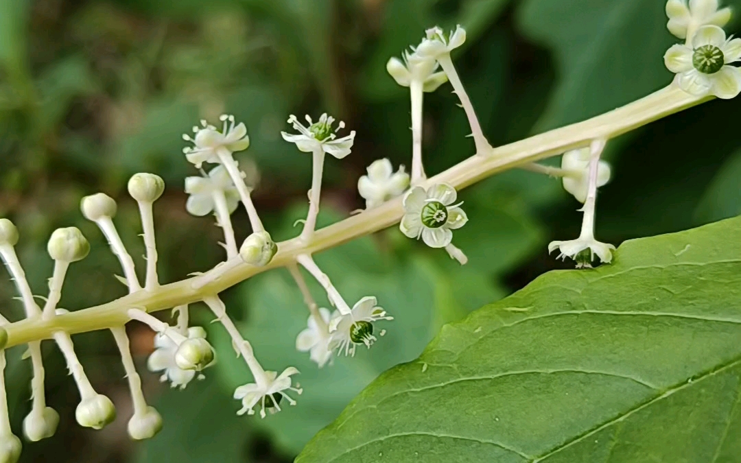
[[[730, 99], [741, 92], [741, 71], [736, 65], [741, 59], [741, 39], [728, 38], [721, 28], [728, 22], [730, 10], [720, 7], [716, 0], [669, 0], [666, 12], [668, 29], [685, 40], [683, 44], [672, 46], [664, 56], [666, 67], [677, 74], [668, 87], [631, 103], [628, 109], [614, 110], [599, 116], [599, 119], [583, 121], [499, 148], [492, 147], [486, 138], [453, 64], [451, 54], [462, 51], [465, 30], [458, 26], [448, 34], [439, 27], [428, 29], [419, 44], [411, 44], [402, 51], [401, 59], [391, 58], [386, 66], [391, 75], [387, 76], [389, 81], [393, 79], [408, 89], [411, 172], [407, 173], [403, 165], [396, 164], [396, 160], [394, 164], [387, 158], [373, 161], [367, 174], [360, 176], [356, 183], [358, 199], [362, 199], [366, 207], [361, 213], [326, 229], [316, 229], [322, 205], [325, 156], [329, 154], [336, 160], [353, 161], [354, 166], [367, 164], [359, 153], [353, 153], [356, 149], [355, 130], [345, 135], [340, 133], [345, 129], [344, 122], [336, 121], [328, 113], [322, 113], [316, 121], [306, 116], [306, 124], [299, 122], [296, 116], [290, 116], [288, 124], [296, 133], [280, 132], [282, 139], [300, 152], [294, 151], [298, 161], [308, 162], [302, 153], [311, 153], [312, 180], [308, 190], [308, 213], [302, 219], [303, 230], [299, 236], [286, 242], [273, 242], [253, 204], [254, 182], [248, 182], [243, 171], [250, 164], [246, 159], [238, 162], [234, 158], [235, 153], [250, 147], [247, 125], [227, 114], [219, 117], [220, 128], [201, 121], [199, 126], [193, 127], [192, 135], [184, 136], [189, 144], [183, 150], [185, 161], [194, 167], [193, 175], [185, 179], [188, 196], [185, 209], [193, 216], [215, 219], [224, 234], [225, 253], [222, 262], [215, 267], [182, 282], [160, 282], [153, 208], [165, 193], [165, 181], [156, 174], [137, 173], [127, 182], [126, 188], [139, 211], [141, 230], [137, 232], [142, 232], [146, 261], [143, 270], [139, 269], [141, 276], [116, 229], [116, 200], [105, 193], [94, 193], [85, 196], [80, 203], [84, 218], [101, 231], [118, 259], [123, 275], [119, 279], [126, 284], [129, 293], [101, 307], [76, 313], [67, 313], [58, 307], [67, 271], [90, 253], [90, 244], [79, 228], [62, 227], [51, 233], [47, 253], [53, 270], [47, 296], [42, 298], [43, 307], [39, 307], [39, 298], [34, 295], [16, 255], [19, 232], [10, 220], [0, 219], [0, 257], [19, 294], [25, 317], [22, 324], [16, 324], [0, 315], [0, 347], [27, 344], [33, 372], [32, 402], [23, 422], [25, 438], [31, 442], [47, 439], [56, 433], [59, 425], [59, 413], [47, 405], [44, 395], [41, 342], [56, 344], [70, 370], [79, 391], [77, 422], [84, 427], [100, 429], [116, 419], [116, 407], [87, 378], [72, 339], [73, 333], [101, 328], [110, 332], [116, 342], [130, 390], [133, 406], [128, 417], [128, 433], [133, 439], [155, 436], [162, 428], [162, 416], [144, 399], [142, 379], [133, 362], [124, 325], [138, 322], [153, 330], [155, 350], [147, 359], [148, 370], [158, 373], [160, 379], [169, 382], [171, 387], [182, 389], [193, 379], [201, 378], [202, 372], [216, 362], [216, 351], [207, 341], [206, 331], [191, 323], [191, 304], [196, 303], [205, 304], [213, 313], [213, 322], [218, 323], [229, 336], [235, 352], [219, 352], [219, 356], [236, 355], [241, 358], [240, 362], [244, 362], [242, 367], [245, 371], [250, 373], [249, 382], [233, 391], [233, 398], [239, 401], [235, 404], [236, 414], [259, 414], [266, 418], [268, 413], [281, 411], [285, 404], [296, 405], [303, 391], [295, 381], [299, 370], [290, 364], [266, 369], [259, 360], [264, 355], [261, 350], [273, 347], [253, 347], [245, 339], [227, 312], [221, 293], [257, 273], [276, 267], [287, 269], [305, 301], [308, 319], [299, 333], [280, 336], [290, 336], [290, 339], [295, 336], [296, 350], [308, 353], [316, 367], [331, 367], [335, 361], [352, 362], [352, 359], [335, 357], [342, 354], [344, 357], [355, 356], [358, 346], [371, 347], [375, 342], [382, 342], [379, 339], [385, 334], [385, 329], [378, 325], [392, 322], [389, 313], [402, 313], [399, 310], [404, 310], [404, 307], [389, 307], [387, 313], [382, 308], [387, 304], [370, 295], [360, 297], [355, 304], [348, 304], [347, 296], [340, 291], [342, 287], [338, 289], [335, 286], [333, 276], [325, 273], [326, 267], [322, 270], [314, 260], [314, 254], [398, 222], [403, 236], [421, 240], [426, 247], [434, 248], [431, 252], [441, 253], [440, 249], [445, 249], [448, 256], [465, 264], [468, 257], [464, 250], [453, 244], [454, 235], [465, 237], [468, 230], [464, 228], [468, 215], [462, 208], [463, 202], [458, 200], [456, 188], [466, 187], [503, 170], [522, 169], [559, 177], [563, 188], [582, 204], [579, 236], [551, 242], [549, 253], [557, 250], [557, 258], [572, 259], [578, 268], [591, 267], [597, 264], [597, 260], [599, 264], [611, 263], [615, 247], [599, 242], [596, 233], [598, 189], [605, 187], [611, 177], [609, 164], [602, 160], [608, 141], [627, 130], [706, 99]], [[428, 179], [422, 157], [425, 136], [422, 130], [423, 97], [448, 84], [465, 112], [476, 152], [442, 173], [431, 173]], [[275, 135], [278, 135], [278, 130]], [[562, 155], [560, 167], [537, 162], [559, 154]], [[350, 155], [353, 156], [348, 158]], [[396, 159], [391, 154], [389, 157]], [[210, 170], [206, 173], [200, 170], [205, 164], [216, 165], [208, 166]], [[398, 170], [394, 170], [394, 165], [399, 165]], [[355, 179], [353, 177], [350, 181]], [[232, 224], [231, 215], [239, 207], [244, 207], [249, 218], [247, 230], [235, 230]], [[473, 214], [472, 210], [469, 212]], [[398, 232], [393, 233], [401, 236]], [[423, 247], [417, 242], [408, 243]], [[321, 291], [321, 304], [316, 302], [316, 295], [305, 281], [307, 276]], [[368, 288], [368, 293], [361, 294], [372, 294], [371, 290], [373, 288]], [[172, 325], [152, 314], [167, 309], [173, 310], [173, 316], [176, 316]], [[302, 320], [304, 316], [301, 316]], [[388, 324], [388, 329], [395, 327]], [[373, 351], [368, 355], [374, 355]], [[5, 364], [6, 351], [0, 349], [0, 370], [3, 372]], [[6, 385], [4, 376], [0, 376], [0, 463], [14, 463], [19, 459], [22, 444], [10, 427]], [[304, 385], [307, 388], [313, 386]]]

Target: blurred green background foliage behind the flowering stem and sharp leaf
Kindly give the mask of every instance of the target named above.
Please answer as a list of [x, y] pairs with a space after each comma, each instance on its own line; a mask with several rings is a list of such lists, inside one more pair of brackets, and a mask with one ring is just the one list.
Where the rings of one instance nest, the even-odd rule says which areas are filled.
[[[19, 254], [36, 293], [51, 263], [45, 240], [81, 227], [93, 244], [73, 265], [62, 307], [76, 310], [124, 294], [116, 259], [79, 213], [96, 191], [120, 199], [116, 219], [136, 258], [143, 247], [125, 181], [151, 171], [167, 182], [156, 204], [161, 278], [182, 279], [222, 259], [213, 221], [185, 213], [184, 176], [196, 171], [180, 138], [199, 119], [234, 113], [252, 139], [245, 161], [261, 173], [256, 205], [277, 238], [306, 210], [310, 157], [280, 138], [289, 113], [329, 111], [358, 136], [352, 156], [327, 163], [325, 223], [362, 207], [356, 181], [373, 159], [411, 164], [409, 101], [385, 62], [433, 24], [468, 28], [456, 66], [492, 144], [585, 119], [671, 80], [662, 65], [672, 37], [663, 0], [0, 0], [0, 215], [21, 230]], [[741, 0], [727, 1], [741, 8]], [[729, 32], [738, 32], [739, 24]], [[473, 152], [456, 99], [444, 86], [425, 99], [425, 164], [437, 173]], [[601, 190], [597, 233], [624, 239], [681, 230], [740, 213], [741, 100], [713, 101], [657, 121], [611, 144], [614, 181]], [[711, 134], [713, 142], [705, 137]], [[732, 156], [733, 155], [733, 156]], [[555, 161], [554, 161], [555, 162]], [[62, 415], [57, 436], [26, 444], [24, 462], [287, 462], [378, 373], [419, 355], [439, 327], [485, 302], [564, 267], [550, 239], [579, 230], [579, 204], [554, 179], [511, 171], [461, 195], [471, 218], [456, 244], [459, 267], [396, 229], [317, 256], [348, 299], [373, 294], [393, 316], [387, 336], [355, 359], [317, 370], [293, 343], [307, 317], [282, 271], [225, 294], [230, 313], [265, 366], [302, 371], [304, 395], [265, 420], [238, 418], [233, 387], [249, 377], [219, 327], [221, 361], [202, 384], [165, 390], [144, 373], [147, 395], [165, 417], [156, 439], [125, 436], [130, 414], [123, 370], [108, 333], [76, 336], [96, 387], [119, 407], [103, 431], [74, 424], [78, 400], [56, 350], [46, 346], [48, 401]], [[239, 238], [247, 234], [235, 213]], [[188, 252], [184, 252], [187, 250]], [[142, 259], [138, 260], [142, 267]], [[321, 291], [312, 288], [319, 301]], [[21, 316], [10, 282], [0, 310]], [[199, 307], [202, 309], [202, 307]], [[193, 310], [199, 322], [210, 318]], [[150, 337], [130, 327], [143, 361]], [[11, 350], [10, 410], [19, 430], [28, 410], [30, 367]], [[50, 457], [53, 456], [53, 457]]]

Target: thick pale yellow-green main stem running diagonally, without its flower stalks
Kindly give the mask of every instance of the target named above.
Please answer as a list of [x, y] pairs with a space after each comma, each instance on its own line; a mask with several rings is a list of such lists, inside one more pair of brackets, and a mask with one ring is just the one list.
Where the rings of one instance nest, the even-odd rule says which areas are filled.
[[[468, 187], [495, 173], [556, 156], [567, 150], [586, 147], [594, 139], [613, 139], [651, 121], [710, 99], [711, 96], [691, 96], [670, 85], [587, 121], [492, 148], [488, 150], [488, 156], [471, 156], [428, 179], [423, 185], [426, 187], [446, 183], [456, 189]], [[53, 320], [25, 319], [9, 324], [5, 327], [8, 334], [7, 347], [48, 339], [59, 330], [67, 333], [84, 333], [120, 326], [129, 320], [127, 310], [130, 307], [144, 307], [148, 312], [153, 312], [201, 301], [205, 296], [218, 294], [257, 273], [293, 264], [296, 257], [301, 254], [319, 253], [359, 236], [390, 227], [401, 220], [403, 213], [401, 198], [388, 201], [382, 206], [317, 230], [308, 243], [300, 238], [280, 243], [278, 253], [265, 267], [247, 264], [216, 267], [206, 273], [209, 276], [208, 282], [200, 287], [193, 284], [199, 281], [197, 279], [200, 277], [194, 277], [162, 285], [152, 292], [139, 291], [107, 304], [59, 315]]]

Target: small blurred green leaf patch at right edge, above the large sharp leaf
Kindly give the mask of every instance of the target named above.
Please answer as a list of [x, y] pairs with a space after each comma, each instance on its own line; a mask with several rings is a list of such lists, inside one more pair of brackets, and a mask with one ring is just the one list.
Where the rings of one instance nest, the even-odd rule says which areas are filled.
[[695, 210], [695, 220], [705, 223], [741, 214], [741, 150], [720, 167]]

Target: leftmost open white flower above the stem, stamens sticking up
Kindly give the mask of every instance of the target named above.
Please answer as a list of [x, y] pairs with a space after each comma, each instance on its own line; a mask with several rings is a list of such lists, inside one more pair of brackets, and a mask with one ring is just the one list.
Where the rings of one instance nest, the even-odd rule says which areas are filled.
[[204, 162], [219, 163], [219, 150], [226, 150], [228, 153], [246, 150], [250, 146], [250, 137], [247, 136], [247, 127], [240, 122], [234, 125], [234, 116], [222, 114], [219, 120], [224, 122], [222, 131], [216, 130], [213, 125], [201, 121], [202, 127], [193, 127], [195, 137], [183, 135], [185, 141], [190, 141], [195, 146], [183, 148], [185, 158], [192, 162], [196, 167], [201, 167]]

